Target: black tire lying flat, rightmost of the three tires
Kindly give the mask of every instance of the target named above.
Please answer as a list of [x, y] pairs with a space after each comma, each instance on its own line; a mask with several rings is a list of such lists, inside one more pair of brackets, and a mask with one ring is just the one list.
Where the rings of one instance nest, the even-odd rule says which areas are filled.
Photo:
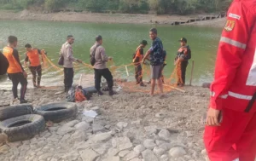
[[35, 108], [34, 113], [44, 117], [45, 121], [59, 123], [73, 118], [78, 113], [78, 106], [72, 102], [51, 103]]

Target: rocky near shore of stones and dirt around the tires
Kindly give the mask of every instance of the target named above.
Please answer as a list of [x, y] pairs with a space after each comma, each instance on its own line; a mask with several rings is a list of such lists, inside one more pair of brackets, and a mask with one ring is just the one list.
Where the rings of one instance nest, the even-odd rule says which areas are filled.
[[[29, 89], [33, 106], [65, 101], [62, 88]], [[158, 95], [120, 91], [119, 95], [77, 103], [76, 118], [47, 129], [29, 141], [0, 147], [4, 161], [203, 161], [204, 126], [208, 89], [185, 87], [173, 90], [166, 99]], [[0, 90], [1, 101], [11, 100], [11, 92]], [[84, 116], [94, 110], [96, 118]]]

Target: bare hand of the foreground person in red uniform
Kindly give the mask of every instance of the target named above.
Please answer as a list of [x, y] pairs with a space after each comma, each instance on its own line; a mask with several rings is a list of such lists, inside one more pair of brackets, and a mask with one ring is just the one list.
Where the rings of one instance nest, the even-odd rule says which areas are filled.
[[207, 112], [207, 125], [208, 126], [220, 126], [218, 116], [220, 114], [219, 110], [209, 108]]

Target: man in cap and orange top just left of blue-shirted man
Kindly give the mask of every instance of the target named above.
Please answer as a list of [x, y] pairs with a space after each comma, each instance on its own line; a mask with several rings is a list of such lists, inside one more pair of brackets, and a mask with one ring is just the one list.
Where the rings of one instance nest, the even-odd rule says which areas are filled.
[[132, 62], [135, 66], [135, 78], [137, 81], [137, 84], [140, 84], [140, 86], [145, 87], [146, 85], [143, 83], [143, 67], [142, 67], [142, 61], [143, 61], [143, 53], [144, 48], [148, 45], [148, 42], [146, 40], [143, 40], [141, 44], [137, 47], [136, 53], [133, 57]]

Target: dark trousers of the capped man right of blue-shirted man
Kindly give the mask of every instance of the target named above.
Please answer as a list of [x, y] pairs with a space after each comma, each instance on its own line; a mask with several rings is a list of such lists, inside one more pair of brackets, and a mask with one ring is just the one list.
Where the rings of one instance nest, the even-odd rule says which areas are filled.
[[183, 60], [178, 63], [179, 64], [177, 65], [177, 84], [184, 85], [186, 83], [186, 71], [189, 61]]

